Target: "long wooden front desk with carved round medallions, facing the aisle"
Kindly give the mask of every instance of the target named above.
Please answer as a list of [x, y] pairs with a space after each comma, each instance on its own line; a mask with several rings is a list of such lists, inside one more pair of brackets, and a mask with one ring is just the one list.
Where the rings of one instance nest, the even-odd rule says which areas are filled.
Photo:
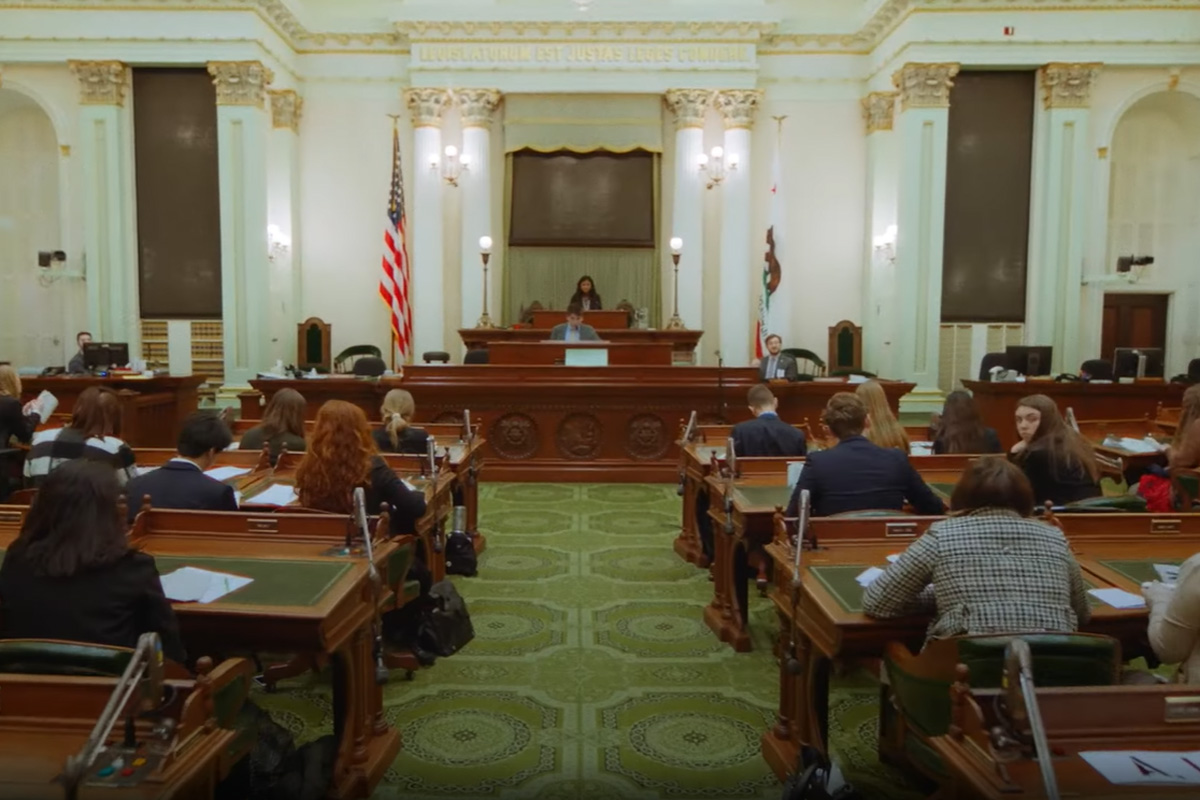
[[[377, 416], [383, 396], [403, 387], [416, 399], [418, 425], [457, 422], [470, 409], [487, 439], [488, 480], [670, 482], [680, 421], [694, 410], [701, 422], [746, 420], [746, 391], [757, 383], [749, 367], [414, 366], [398, 380], [253, 380], [242, 417], [259, 419], [262, 397], [280, 389], [304, 395], [310, 417], [334, 398]], [[883, 386], [898, 407], [913, 385]], [[834, 392], [853, 386], [835, 380], [772, 390], [784, 419], [804, 420], [818, 419]]]

